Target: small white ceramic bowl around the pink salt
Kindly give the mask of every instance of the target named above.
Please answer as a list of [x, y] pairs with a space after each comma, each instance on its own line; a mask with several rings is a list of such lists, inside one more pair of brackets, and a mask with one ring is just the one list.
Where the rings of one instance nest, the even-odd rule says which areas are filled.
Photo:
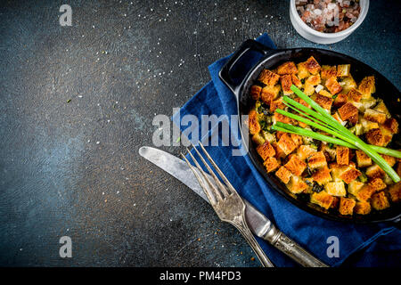
[[292, 26], [297, 30], [299, 35], [305, 37], [307, 40], [314, 42], [316, 44], [333, 44], [340, 42], [344, 38], [352, 34], [356, 28], [364, 21], [366, 14], [369, 9], [369, 0], [360, 0], [361, 13], [359, 14], [358, 20], [351, 27], [344, 29], [338, 33], [322, 33], [317, 30], [310, 28], [307, 24], [300, 19], [295, 6], [295, 0], [291, 0], [290, 3], [290, 19]]

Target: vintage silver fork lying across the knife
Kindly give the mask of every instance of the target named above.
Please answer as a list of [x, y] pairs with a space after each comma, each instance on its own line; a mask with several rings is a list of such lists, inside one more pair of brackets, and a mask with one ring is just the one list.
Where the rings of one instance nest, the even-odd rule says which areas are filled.
[[246, 223], [245, 220], [245, 208], [246, 208], [245, 203], [242, 201], [240, 195], [238, 194], [237, 191], [235, 191], [233, 185], [228, 181], [228, 179], [225, 177], [220, 168], [217, 167], [217, 164], [209, 156], [208, 151], [205, 150], [201, 142], [199, 142], [199, 144], [201, 146], [202, 151], [208, 158], [209, 162], [217, 171], [217, 174], [220, 175], [220, 177], [225, 182], [226, 187], [223, 183], [220, 182], [220, 180], [217, 178], [217, 175], [215, 175], [213, 170], [209, 167], [209, 164], [206, 162], [205, 159], [203, 159], [201, 153], [195, 148], [193, 144], [192, 144], [193, 149], [196, 151], [196, 153], [198, 153], [198, 156], [201, 158], [201, 161], [208, 169], [209, 174], [212, 175], [213, 180], [217, 184], [217, 187], [214, 185], [214, 183], [212, 183], [209, 180], [209, 177], [205, 175], [205, 172], [199, 165], [198, 161], [192, 156], [191, 151], [187, 149], [193, 162], [195, 163], [196, 167], [199, 169], [201, 175], [203, 176], [203, 179], [206, 180], [206, 182], [209, 184], [209, 187], [205, 185], [204, 180], [201, 179], [201, 176], [195, 170], [195, 167], [193, 167], [192, 164], [188, 161], [188, 159], [185, 158], [183, 153], [181, 153], [181, 156], [184, 158], [184, 160], [188, 164], [188, 167], [190, 167], [193, 174], [198, 179], [203, 191], [205, 191], [205, 194], [210, 201], [211, 206], [215, 209], [217, 216], [222, 221], [233, 224], [233, 226], [237, 228], [238, 231], [241, 232], [242, 236], [245, 238], [245, 240], [248, 241], [250, 247], [258, 256], [260, 263], [264, 267], [274, 267], [273, 263], [266, 256], [263, 249], [260, 248], [258, 241], [255, 240], [252, 232], [250, 232], [250, 228], [248, 227], [248, 224]]

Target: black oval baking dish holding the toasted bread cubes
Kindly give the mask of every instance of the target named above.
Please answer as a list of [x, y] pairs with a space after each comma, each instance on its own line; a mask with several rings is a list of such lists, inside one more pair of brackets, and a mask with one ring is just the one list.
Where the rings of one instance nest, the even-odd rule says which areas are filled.
[[[245, 56], [247, 54], [255, 52], [261, 53], [263, 56], [262, 59], [253, 67], [251, 67], [245, 76], [236, 78], [237, 80], [235, 80], [235, 77], [233, 77], [233, 74], [235, 73], [235, 71], [233, 71], [235, 64], [238, 61], [241, 61], [241, 59], [243, 60], [246, 58]], [[392, 85], [389, 80], [383, 77], [378, 71], [372, 69], [363, 62], [357, 61], [356, 59], [353, 59], [345, 54], [335, 53], [323, 49], [294, 48], [273, 50], [265, 45], [259, 44], [254, 40], [248, 40], [244, 42], [239, 50], [233, 54], [233, 56], [229, 61], [227, 61], [219, 73], [220, 79], [233, 91], [233, 94], [236, 97], [238, 114], [240, 115], [239, 124], [241, 130], [241, 116], [248, 115], [250, 108], [254, 105], [254, 102], [250, 98], [250, 86], [255, 84], [261, 70], [275, 68], [285, 61], [306, 61], [311, 55], [315, 57], [316, 61], [318, 61], [320, 65], [338, 65], [345, 63], [351, 64], [351, 74], [356, 82], [360, 82], [365, 76], [373, 75], [376, 78], [376, 93], [374, 94], [374, 97], [380, 97], [385, 102], [391, 115], [394, 118], [397, 118], [398, 122], [400, 121], [401, 103], [397, 102], [397, 98], [399, 98], [397, 87]], [[258, 171], [261, 175], [263, 175], [271, 188], [282, 194], [282, 196], [291, 201], [292, 204], [302, 208], [308, 213], [314, 214], [315, 216], [321, 216], [323, 218], [335, 221], [352, 222], [358, 224], [371, 224], [391, 221], [399, 226], [398, 222], [401, 220], [401, 207], [399, 204], [393, 204], [390, 208], [382, 211], [372, 211], [371, 214], [365, 216], [342, 216], [340, 213], [338, 213], [338, 210], [325, 210], [315, 204], [310, 203], [309, 195], [297, 196], [292, 194], [280, 179], [278, 179], [275, 175], [266, 173], [265, 167], [263, 166], [263, 161], [259, 158], [256, 148], [253, 146], [250, 140], [249, 132], [247, 132], [247, 134], [243, 134], [243, 132], [241, 132], [242, 142], [245, 142], [243, 139], [244, 135], [247, 135], [249, 138], [248, 142], [250, 142], [250, 145], [248, 146], [248, 151], [250, 159], [255, 167], [258, 168]], [[394, 135], [389, 148], [401, 149], [399, 134]]]

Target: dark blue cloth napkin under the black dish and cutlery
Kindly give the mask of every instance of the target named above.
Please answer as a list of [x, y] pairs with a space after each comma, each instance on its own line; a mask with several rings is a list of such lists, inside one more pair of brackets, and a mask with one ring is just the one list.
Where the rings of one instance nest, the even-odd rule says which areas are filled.
[[[275, 48], [274, 43], [266, 34], [258, 37], [258, 42]], [[185, 115], [193, 115], [201, 122], [202, 115], [215, 114], [220, 117], [221, 115], [237, 114], [233, 93], [218, 77], [219, 70], [228, 58], [225, 57], [209, 66], [211, 81], [173, 116], [173, 122], [180, 126], [182, 131], [186, 130], [188, 133], [188, 129], [191, 128], [183, 126], [181, 119]], [[258, 60], [259, 57], [256, 54], [250, 54], [247, 61], [241, 62], [243, 69], [248, 70]], [[229, 121], [229, 123], [231, 126], [238, 124], [236, 120]], [[233, 187], [243, 198], [249, 200], [252, 205], [264, 213], [282, 232], [314, 256], [331, 266], [342, 264], [344, 266], [401, 265], [400, 230], [391, 224], [344, 224], [308, 214], [270, 189], [256, 167], [253, 166], [248, 155], [233, 156], [232, 151], [235, 148], [232, 144], [224, 146], [221, 127], [218, 124], [209, 129], [207, 134], [202, 136], [200, 131], [197, 135], [202, 142], [210, 139], [211, 136], [218, 140], [219, 146], [209, 146], [207, 150]], [[190, 134], [189, 137], [193, 137], [193, 134]], [[236, 140], [240, 140], [239, 134]], [[191, 161], [191, 159], [189, 160]], [[328, 248], [332, 244], [330, 237], [336, 237], [339, 240], [338, 257], [327, 255]], [[274, 265], [297, 266], [289, 257], [283, 255], [265, 240], [258, 239], [258, 242]], [[329, 251], [331, 251], [330, 248]]]

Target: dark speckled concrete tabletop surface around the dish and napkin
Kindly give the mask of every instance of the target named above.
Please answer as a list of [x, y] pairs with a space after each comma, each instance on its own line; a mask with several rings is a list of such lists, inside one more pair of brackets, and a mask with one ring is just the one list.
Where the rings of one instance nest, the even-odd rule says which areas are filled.
[[[289, 1], [1, 1], [0, 265], [258, 266], [231, 225], [138, 155], [152, 118], [264, 32], [278, 47], [348, 53], [400, 85], [400, 7], [371, 1], [353, 35], [323, 46], [292, 28]], [[64, 235], [72, 258], [59, 256]]]

